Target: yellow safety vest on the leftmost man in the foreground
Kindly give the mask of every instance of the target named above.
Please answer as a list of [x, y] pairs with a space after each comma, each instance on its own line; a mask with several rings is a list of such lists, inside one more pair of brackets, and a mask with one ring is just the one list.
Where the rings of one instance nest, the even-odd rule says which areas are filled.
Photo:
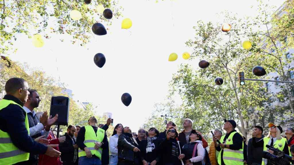
[[[7, 107], [10, 104], [19, 105], [16, 102], [12, 100], [0, 100], [0, 111]], [[21, 105], [19, 105], [21, 107]], [[21, 107], [23, 109], [23, 107]], [[29, 130], [29, 120], [26, 115], [25, 118], [25, 124], [26, 129], [28, 130], [28, 133], [30, 134]], [[11, 138], [7, 132], [4, 132], [0, 129], [0, 162], [1, 164], [10, 165], [10, 164], [16, 164], [21, 161], [29, 160], [29, 153], [25, 151], [21, 151], [19, 148], [17, 148], [11, 141]]]

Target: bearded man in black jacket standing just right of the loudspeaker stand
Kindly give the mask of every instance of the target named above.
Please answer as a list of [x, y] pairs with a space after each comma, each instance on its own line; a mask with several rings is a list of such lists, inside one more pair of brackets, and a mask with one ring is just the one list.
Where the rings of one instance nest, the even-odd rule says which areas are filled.
[[74, 138], [76, 127], [69, 125], [67, 132], [64, 134], [65, 142], [59, 144], [59, 150], [61, 152], [61, 160], [64, 165], [73, 164], [78, 165], [78, 145]]

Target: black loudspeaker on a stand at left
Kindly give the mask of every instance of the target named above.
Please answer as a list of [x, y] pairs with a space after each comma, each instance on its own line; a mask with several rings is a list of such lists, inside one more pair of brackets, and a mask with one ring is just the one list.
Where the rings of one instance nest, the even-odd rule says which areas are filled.
[[58, 119], [54, 125], [68, 125], [69, 121], [69, 97], [52, 96], [50, 115], [54, 117], [58, 114]]

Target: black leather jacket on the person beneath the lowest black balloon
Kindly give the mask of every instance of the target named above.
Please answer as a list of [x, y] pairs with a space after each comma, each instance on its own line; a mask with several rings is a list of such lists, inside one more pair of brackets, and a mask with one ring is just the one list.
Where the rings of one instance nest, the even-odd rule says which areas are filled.
[[132, 134], [119, 135], [117, 144], [118, 161], [135, 161], [137, 154], [134, 153], [133, 148], [138, 147], [138, 144]]

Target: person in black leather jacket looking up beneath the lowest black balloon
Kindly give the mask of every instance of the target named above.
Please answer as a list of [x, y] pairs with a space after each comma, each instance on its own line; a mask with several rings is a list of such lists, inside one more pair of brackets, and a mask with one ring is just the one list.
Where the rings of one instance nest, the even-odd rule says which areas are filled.
[[123, 132], [118, 137], [118, 165], [138, 164], [138, 154], [140, 149], [138, 143], [133, 137], [129, 127], [124, 127]]

